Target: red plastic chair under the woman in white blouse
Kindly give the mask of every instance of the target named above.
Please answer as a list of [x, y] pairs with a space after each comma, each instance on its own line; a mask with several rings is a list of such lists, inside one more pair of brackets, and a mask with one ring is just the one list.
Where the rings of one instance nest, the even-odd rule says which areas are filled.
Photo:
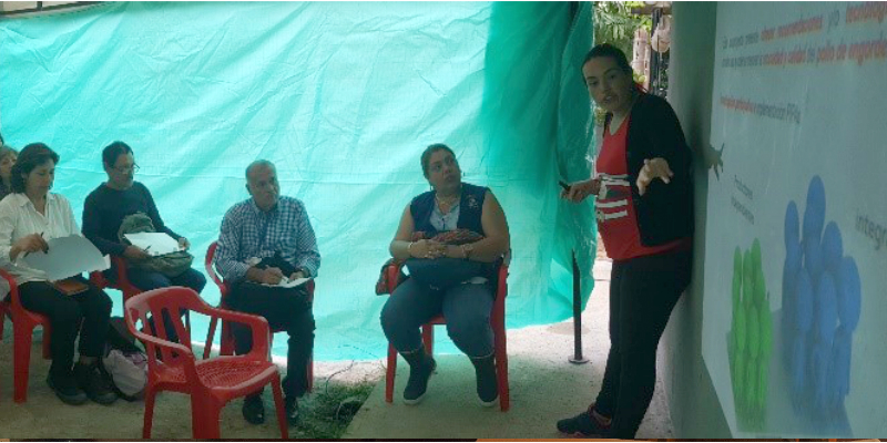
[[16, 279], [6, 270], [0, 269], [0, 277], [9, 284], [9, 300], [0, 301], [0, 340], [3, 339], [3, 322], [7, 316], [12, 320], [13, 331], [13, 383], [14, 391], [12, 399], [16, 403], [28, 401], [28, 374], [31, 368], [31, 343], [34, 328], [40, 324], [43, 327], [43, 358], [50, 359], [50, 332], [52, 329], [47, 316], [31, 312], [21, 305], [19, 298], [19, 286]]

